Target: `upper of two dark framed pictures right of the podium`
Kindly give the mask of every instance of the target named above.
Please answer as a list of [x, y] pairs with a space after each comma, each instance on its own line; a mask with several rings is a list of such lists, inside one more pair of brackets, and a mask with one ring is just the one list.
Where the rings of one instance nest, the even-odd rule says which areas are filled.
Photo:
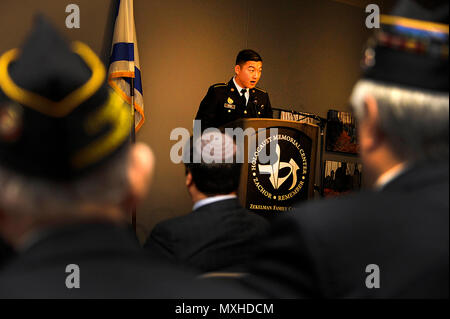
[[351, 113], [328, 111], [325, 150], [327, 152], [358, 154], [359, 144], [355, 119]]

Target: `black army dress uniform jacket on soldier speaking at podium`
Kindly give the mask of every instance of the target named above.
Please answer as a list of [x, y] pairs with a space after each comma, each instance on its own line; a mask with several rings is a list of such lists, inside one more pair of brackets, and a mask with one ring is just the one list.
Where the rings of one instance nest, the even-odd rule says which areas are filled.
[[260, 88], [249, 89], [247, 105], [234, 85], [233, 79], [218, 83], [208, 89], [200, 103], [196, 120], [202, 121], [202, 130], [223, 125], [240, 118], [272, 118], [269, 94]]

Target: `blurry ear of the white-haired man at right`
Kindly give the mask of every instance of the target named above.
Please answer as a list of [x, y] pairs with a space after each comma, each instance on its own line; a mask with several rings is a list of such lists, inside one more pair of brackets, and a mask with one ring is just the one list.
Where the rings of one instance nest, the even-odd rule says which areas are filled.
[[378, 103], [373, 96], [364, 99], [364, 119], [360, 123], [360, 145], [368, 152], [376, 149], [382, 141]]

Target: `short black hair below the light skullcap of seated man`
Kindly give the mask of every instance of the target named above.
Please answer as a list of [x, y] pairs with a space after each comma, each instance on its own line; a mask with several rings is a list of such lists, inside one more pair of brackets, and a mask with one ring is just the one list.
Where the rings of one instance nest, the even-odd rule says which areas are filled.
[[226, 195], [237, 191], [242, 164], [236, 162], [236, 154], [232, 163], [205, 163], [203, 157], [200, 163], [193, 163], [194, 141], [190, 139], [190, 159], [185, 162], [186, 174], [191, 173], [197, 189], [207, 196]]

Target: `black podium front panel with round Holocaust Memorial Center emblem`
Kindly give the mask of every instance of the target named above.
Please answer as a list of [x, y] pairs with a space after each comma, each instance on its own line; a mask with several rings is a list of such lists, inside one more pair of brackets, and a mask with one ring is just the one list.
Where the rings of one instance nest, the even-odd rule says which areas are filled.
[[246, 207], [286, 211], [307, 198], [310, 154], [311, 140], [294, 130], [282, 128], [259, 140], [249, 158]]

